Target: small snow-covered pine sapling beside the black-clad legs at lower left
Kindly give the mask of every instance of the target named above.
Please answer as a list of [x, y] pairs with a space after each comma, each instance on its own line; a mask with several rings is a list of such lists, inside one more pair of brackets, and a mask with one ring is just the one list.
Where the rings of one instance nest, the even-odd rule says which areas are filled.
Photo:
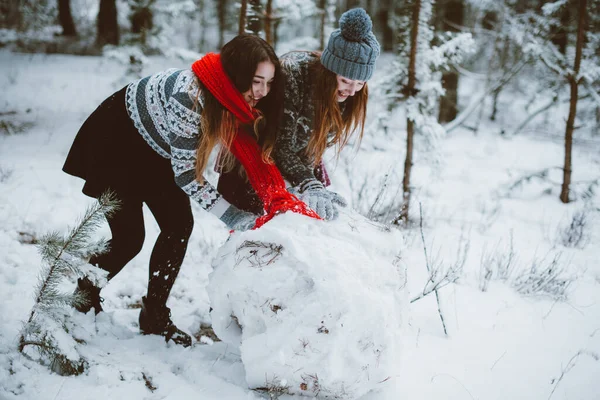
[[71, 276], [86, 276], [99, 287], [106, 283], [106, 271], [88, 264], [87, 260], [92, 254], [106, 249], [105, 240], [94, 242], [91, 235], [104, 217], [117, 207], [118, 201], [114, 196], [104, 194], [98, 203], [87, 209], [66, 237], [52, 232], [38, 244], [44, 266], [35, 303], [21, 330], [19, 351], [61, 375], [80, 374], [87, 365], [77, 351], [80, 340], [74, 336], [75, 327], [70, 318], [73, 313], [71, 306], [87, 299], [64, 293], [61, 286]]

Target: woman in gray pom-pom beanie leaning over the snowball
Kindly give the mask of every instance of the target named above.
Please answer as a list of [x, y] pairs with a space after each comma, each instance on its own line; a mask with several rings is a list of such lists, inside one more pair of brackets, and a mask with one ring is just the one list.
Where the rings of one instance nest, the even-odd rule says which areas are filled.
[[[273, 158], [295, 193], [323, 219], [335, 219], [346, 201], [327, 190], [329, 178], [322, 158], [329, 146], [337, 153], [358, 130], [364, 132], [367, 81], [379, 57], [379, 43], [365, 10], [342, 14], [340, 28], [329, 37], [322, 53], [294, 51], [280, 57], [285, 77], [283, 124]], [[227, 184], [225, 184], [227, 182]], [[243, 194], [243, 181], [234, 174], [221, 176], [220, 185], [237, 187], [232, 196], [245, 210], [260, 209], [256, 196]]]

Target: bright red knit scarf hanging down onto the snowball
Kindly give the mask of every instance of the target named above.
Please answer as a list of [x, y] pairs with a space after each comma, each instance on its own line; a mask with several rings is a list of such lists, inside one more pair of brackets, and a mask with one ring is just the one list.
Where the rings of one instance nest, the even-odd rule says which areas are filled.
[[274, 164], [262, 160], [260, 147], [242, 125], [253, 126], [259, 111], [250, 107], [244, 96], [233, 85], [221, 64], [221, 56], [208, 53], [192, 64], [192, 71], [219, 103], [235, 115], [238, 130], [229, 151], [244, 166], [250, 184], [262, 200], [265, 215], [256, 220], [260, 228], [275, 215], [293, 211], [320, 219], [313, 210], [285, 189], [285, 182]]

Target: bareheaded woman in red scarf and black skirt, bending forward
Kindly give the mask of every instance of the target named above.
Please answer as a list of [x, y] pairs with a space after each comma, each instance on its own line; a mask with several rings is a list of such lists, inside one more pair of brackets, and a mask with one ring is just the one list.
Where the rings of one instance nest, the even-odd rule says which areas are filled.
[[[170, 69], [127, 85], [79, 130], [63, 170], [85, 180], [86, 195], [98, 198], [111, 190], [120, 201], [119, 209], [107, 216], [112, 233], [108, 251], [89, 263], [108, 271], [110, 280], [139, 253], [145, 235], [143, 203], [160, 228], [142, 299], [142, 333], [191, 344], [166, 306], [193, 228], [189, 198], [233, 230], [259, 226], [290, 209], [311, 215], [285, 190], [270, 159], [282, 97], [280, 64], [271, 46], [257, 36], [240, 35], [191, 69]], [[235, 160], [242, 164], [266, 214], [240, 210], [204, 179], [217, 145], [221, 168], [228, 171]], [[89, 279], [79, 279], [76, 292], [87, 300], [74, 304], [79, 311], [102, 310], [100, 288]]]

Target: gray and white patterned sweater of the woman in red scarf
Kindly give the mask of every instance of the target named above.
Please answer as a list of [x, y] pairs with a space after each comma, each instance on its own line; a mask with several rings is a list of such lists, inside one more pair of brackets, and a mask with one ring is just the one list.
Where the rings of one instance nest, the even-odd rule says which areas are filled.
[[[206, 179], [196, 180], [202, 96], [192, 70], [169, 69], [127, 87], [127, 112], [150, 147], [171, 160], [175, 182], [202, 208], [217, 217], [229, 203]], [[199, 104], [194, 109], [195, 99]]]

